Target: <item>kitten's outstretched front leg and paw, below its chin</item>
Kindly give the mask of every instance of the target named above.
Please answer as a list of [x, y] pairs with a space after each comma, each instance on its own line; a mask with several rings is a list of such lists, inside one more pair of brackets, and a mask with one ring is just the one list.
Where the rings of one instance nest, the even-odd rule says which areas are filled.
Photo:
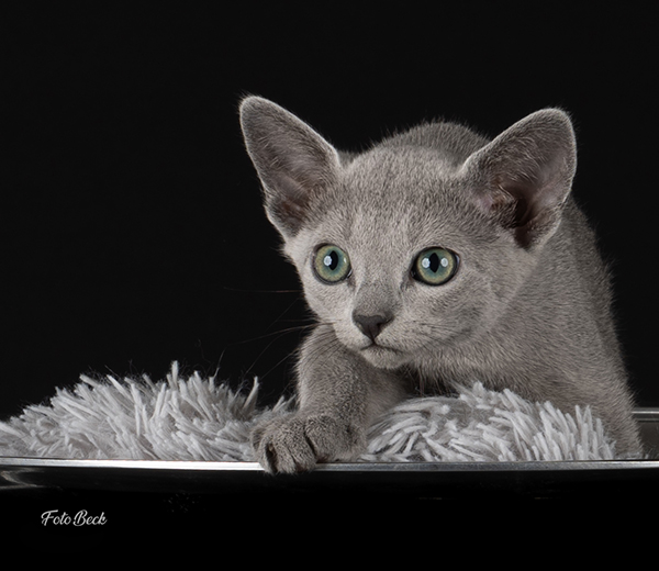
[[255, 456], [269, 472], [357, 459], [372, 419], [406, 395], [399, 374], [376, 369], [326, 332], [304, 344], [298, 382], [299, 410], [252, 433]]

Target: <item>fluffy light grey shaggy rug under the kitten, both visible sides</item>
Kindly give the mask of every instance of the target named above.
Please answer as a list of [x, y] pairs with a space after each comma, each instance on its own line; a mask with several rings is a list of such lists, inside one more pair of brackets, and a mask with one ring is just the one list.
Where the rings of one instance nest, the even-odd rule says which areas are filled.
[[[256, 406], [258, 382], [235, 392], [198, 373], [165, 381], [147, 377], [81, 377], [49, 405], [29, 406], [0, 423], [0, 456], [254, 461], [249, 430], [294, 403]], [[561, 412], [510, 391], [476, 383], [457, 398], [406, 401], [369, 433], [360, 461], [518, 461], [615, 459], [614, 443], [589, 408]]]

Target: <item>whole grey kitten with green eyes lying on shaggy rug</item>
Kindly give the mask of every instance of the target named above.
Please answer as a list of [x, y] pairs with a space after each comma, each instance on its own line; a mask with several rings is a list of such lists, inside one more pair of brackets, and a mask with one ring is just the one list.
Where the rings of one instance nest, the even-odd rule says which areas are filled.
[[336, 150], [257, 97], [241, 105], [269, 220], [317, 316], [299, 410], [258, 426], [272, 472], [354, 460], [369, 424], [420, 384], [482, 381], [639, 438], [594, 236], [570, 195], [571, 122], [546, 109], [493, 141], [429, 123]]

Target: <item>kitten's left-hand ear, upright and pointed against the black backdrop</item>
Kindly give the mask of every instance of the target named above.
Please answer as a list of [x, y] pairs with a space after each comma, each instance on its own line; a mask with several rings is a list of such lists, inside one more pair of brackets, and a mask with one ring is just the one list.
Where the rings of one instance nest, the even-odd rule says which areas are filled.
[[263, 98], [243, 100], [241, 126], [268, 217], [284, 237], [294, 236], [313, 195], [335, 182], [338, 154], [306, 123]]

